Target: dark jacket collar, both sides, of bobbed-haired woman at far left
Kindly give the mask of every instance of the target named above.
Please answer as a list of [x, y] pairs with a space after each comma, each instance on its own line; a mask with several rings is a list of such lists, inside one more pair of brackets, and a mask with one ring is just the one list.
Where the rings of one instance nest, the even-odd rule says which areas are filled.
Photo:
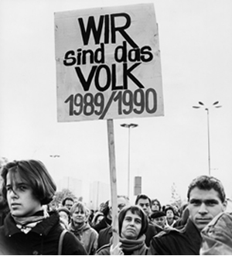
[[[50, 212], [49, 215], [49, 217], [37, 224], [36, 227], [33, 227], [30, 232], [46, 236], [52, 229], [52, 227], [54, 227], [54, 225], [56, 224], [59, 224], [60, 221], [59, 213], [57, 213], [56, 211]], [[12, 215], [10, 213], [7, 215], [7, 217], [5, 217], [4, 227], [6, 237], [10, 237], [16, 233], [22, 233], [22, 231], [19, 230], [18, 227], [16, 227], [15, 220], [12, 218]]]

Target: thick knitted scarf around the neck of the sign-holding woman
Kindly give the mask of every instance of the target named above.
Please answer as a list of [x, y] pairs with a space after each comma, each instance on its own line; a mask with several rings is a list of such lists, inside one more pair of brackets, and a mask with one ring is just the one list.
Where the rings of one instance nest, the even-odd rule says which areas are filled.
[[145, 234], [136, 240], [119, 237], [122, 250], [133, 255], [145, 255], [147, 247], [145, 246]]

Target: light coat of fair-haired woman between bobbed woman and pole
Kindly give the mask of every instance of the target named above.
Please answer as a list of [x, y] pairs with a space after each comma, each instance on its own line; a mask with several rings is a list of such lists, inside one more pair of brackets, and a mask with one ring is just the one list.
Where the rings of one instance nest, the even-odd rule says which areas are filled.
[[97, 231], [90, 227], [90, 224], [85, 224], [81, 230], [75, 229], [72, 224], [69, 225], [69, 230], [72, 232], [80, 243], [84, 246], [88, 255], [94, 255], [97, 251]]

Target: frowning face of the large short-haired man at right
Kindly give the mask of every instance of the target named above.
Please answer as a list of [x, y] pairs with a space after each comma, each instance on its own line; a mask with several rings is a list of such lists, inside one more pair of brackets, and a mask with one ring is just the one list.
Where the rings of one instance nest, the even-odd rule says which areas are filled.
[[218, 213], [223, 212], [227, 203], [222, 203], [216, 190], [203, 190], [195, 187], [189, 195], [189, 217], [198, 230], [204, 227]]

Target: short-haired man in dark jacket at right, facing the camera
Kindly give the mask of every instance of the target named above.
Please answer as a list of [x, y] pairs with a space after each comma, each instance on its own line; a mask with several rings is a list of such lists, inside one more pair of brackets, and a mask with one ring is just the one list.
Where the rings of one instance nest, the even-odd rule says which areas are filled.
[[227, 207], [222, 183], [212, 176], [199, 176], [190, 183], [189, 220], [181, 230], [164, 230], [152, 238], [151, 255], [199, 255], [201, 230]]

